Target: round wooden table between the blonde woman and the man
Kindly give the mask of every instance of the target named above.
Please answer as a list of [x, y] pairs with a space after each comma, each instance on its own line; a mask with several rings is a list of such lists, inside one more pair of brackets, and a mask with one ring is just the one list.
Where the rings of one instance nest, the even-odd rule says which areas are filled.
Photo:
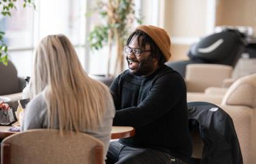
[[[0, 126], [0, 139], [8, 137], [9, 135], [18, 133], [9, 131], [14, 126]], [[135, 129], [130, 126], [113, 126], [111, 131], [111, 139], [132, 137], [135, 134]]]

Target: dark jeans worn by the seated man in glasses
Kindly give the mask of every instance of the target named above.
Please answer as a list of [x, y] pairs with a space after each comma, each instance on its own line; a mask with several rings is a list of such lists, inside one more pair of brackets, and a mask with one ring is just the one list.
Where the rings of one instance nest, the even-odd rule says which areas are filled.
[[185, 164], [172, 155], [151, 148], [133, 148], [110, 142], [106, 164]]

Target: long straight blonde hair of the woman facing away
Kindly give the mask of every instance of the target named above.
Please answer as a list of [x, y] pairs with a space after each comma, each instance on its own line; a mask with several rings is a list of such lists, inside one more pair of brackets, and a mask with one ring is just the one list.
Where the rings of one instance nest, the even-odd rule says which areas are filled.
[[[111, 97], [107, 86], [88, 77], [74, 47], [64, 35], [43, 38], [35, 52], [32, 97], [45, 90], [48, 128], [95, 129]], [[110, 103], [111, 104], [111, 103]]]

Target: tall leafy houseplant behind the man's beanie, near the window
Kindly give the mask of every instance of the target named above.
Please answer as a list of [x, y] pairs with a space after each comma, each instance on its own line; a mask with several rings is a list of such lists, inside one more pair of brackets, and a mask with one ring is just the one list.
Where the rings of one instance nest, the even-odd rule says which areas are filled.
[[94, 13], [99, 14], [105, 23], [95, 26], [90, 32], [88, 41], [93, 50], [108, 46], [107, 77], [110, 77], [110, 60], [112, 47], [116, 46], [116, 61], [114, 75], [123, 71], [123, 47], [126, 39], [133, 29], [134, 22], [141, 24], [140, 16], [135, 15], [133, 0], [107, 0], [98, 1]]

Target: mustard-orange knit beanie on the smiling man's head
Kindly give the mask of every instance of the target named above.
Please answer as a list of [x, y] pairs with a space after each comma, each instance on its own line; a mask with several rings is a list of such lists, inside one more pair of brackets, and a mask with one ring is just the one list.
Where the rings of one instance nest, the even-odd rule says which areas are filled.
[[165, 61], [171, 58], [171, 39], [164, 29], [155, 26], [138, 26], [136, 30], [147, 33], [154, 40], [165, 56]]

